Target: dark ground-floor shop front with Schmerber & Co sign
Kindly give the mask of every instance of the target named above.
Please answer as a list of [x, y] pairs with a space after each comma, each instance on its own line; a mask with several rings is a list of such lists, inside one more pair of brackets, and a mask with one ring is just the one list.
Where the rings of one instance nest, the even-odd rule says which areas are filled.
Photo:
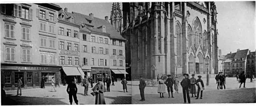
[[24, 89], [39, 88], [42, 78], [45, 79], [45, 86], [51, 86], [52, 77], [56, 79], [60, 77], [60, 68], [60, 66], [1, 64], [1, 84], [5, 85], [6, 90], [14, 90], [19, 77], [22, 77]]

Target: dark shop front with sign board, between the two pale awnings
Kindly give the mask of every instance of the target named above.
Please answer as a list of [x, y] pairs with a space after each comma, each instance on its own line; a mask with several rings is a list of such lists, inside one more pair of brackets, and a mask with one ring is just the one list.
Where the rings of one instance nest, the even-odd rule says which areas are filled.
[[97, 78], [103, 78], [103, 76], [110, 76], [110, 70], [109, 68], [93, 68], [92, 71], [90, 72], [90, 76], [92, 76], [93, 82], [97, 83]]

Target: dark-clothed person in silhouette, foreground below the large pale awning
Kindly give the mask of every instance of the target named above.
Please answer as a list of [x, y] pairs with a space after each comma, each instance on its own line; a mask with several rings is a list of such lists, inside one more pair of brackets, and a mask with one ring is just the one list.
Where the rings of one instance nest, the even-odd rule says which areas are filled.
[[78, 105], [78, 100], [77, 100], [77, 96], [76, 96], [77, 87], [76, 87], [75, 79], [72, 79], [71, 83], [68, 84], [67, 92], [68, 92], [68, 97], [69, 97], [70, 105], [72, 105], [72, 102], [73, 102], [72, 96], [74, 98], [75, 103]]

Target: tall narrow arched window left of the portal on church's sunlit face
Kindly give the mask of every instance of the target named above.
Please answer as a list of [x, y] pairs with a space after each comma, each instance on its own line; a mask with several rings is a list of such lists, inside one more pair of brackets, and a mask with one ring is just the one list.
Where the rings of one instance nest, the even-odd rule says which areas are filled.
[[175, 25], [175, 28], [176, 28], [176, 50], [177, 50], [177, 65], [180, 66], [181, 64], [181, 59], [180, 59], [180, 56], [181, 56], [181, 31], [180, 31], [180, 26], [178, 24]]

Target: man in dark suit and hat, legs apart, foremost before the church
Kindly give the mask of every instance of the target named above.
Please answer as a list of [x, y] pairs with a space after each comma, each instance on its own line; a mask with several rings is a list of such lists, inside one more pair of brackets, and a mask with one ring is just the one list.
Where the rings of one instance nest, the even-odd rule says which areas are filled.
[[184, 98], [184, 103], [187, 102], [186, 100], [186, 94], [187, 94], [187, 98], [188, 98], [188, 103], [190, 103], [190, 97], [189, 97], [189, 92], [188, 89], [191, 86], [190, 80], [187, 78], [188, 74], [183, 74], [183, 76], [185, 77], [185, 79], [183, 79], [180, 82], [180, 85], [182, 86], [182, 92], [183, 92], [183, 98]]

